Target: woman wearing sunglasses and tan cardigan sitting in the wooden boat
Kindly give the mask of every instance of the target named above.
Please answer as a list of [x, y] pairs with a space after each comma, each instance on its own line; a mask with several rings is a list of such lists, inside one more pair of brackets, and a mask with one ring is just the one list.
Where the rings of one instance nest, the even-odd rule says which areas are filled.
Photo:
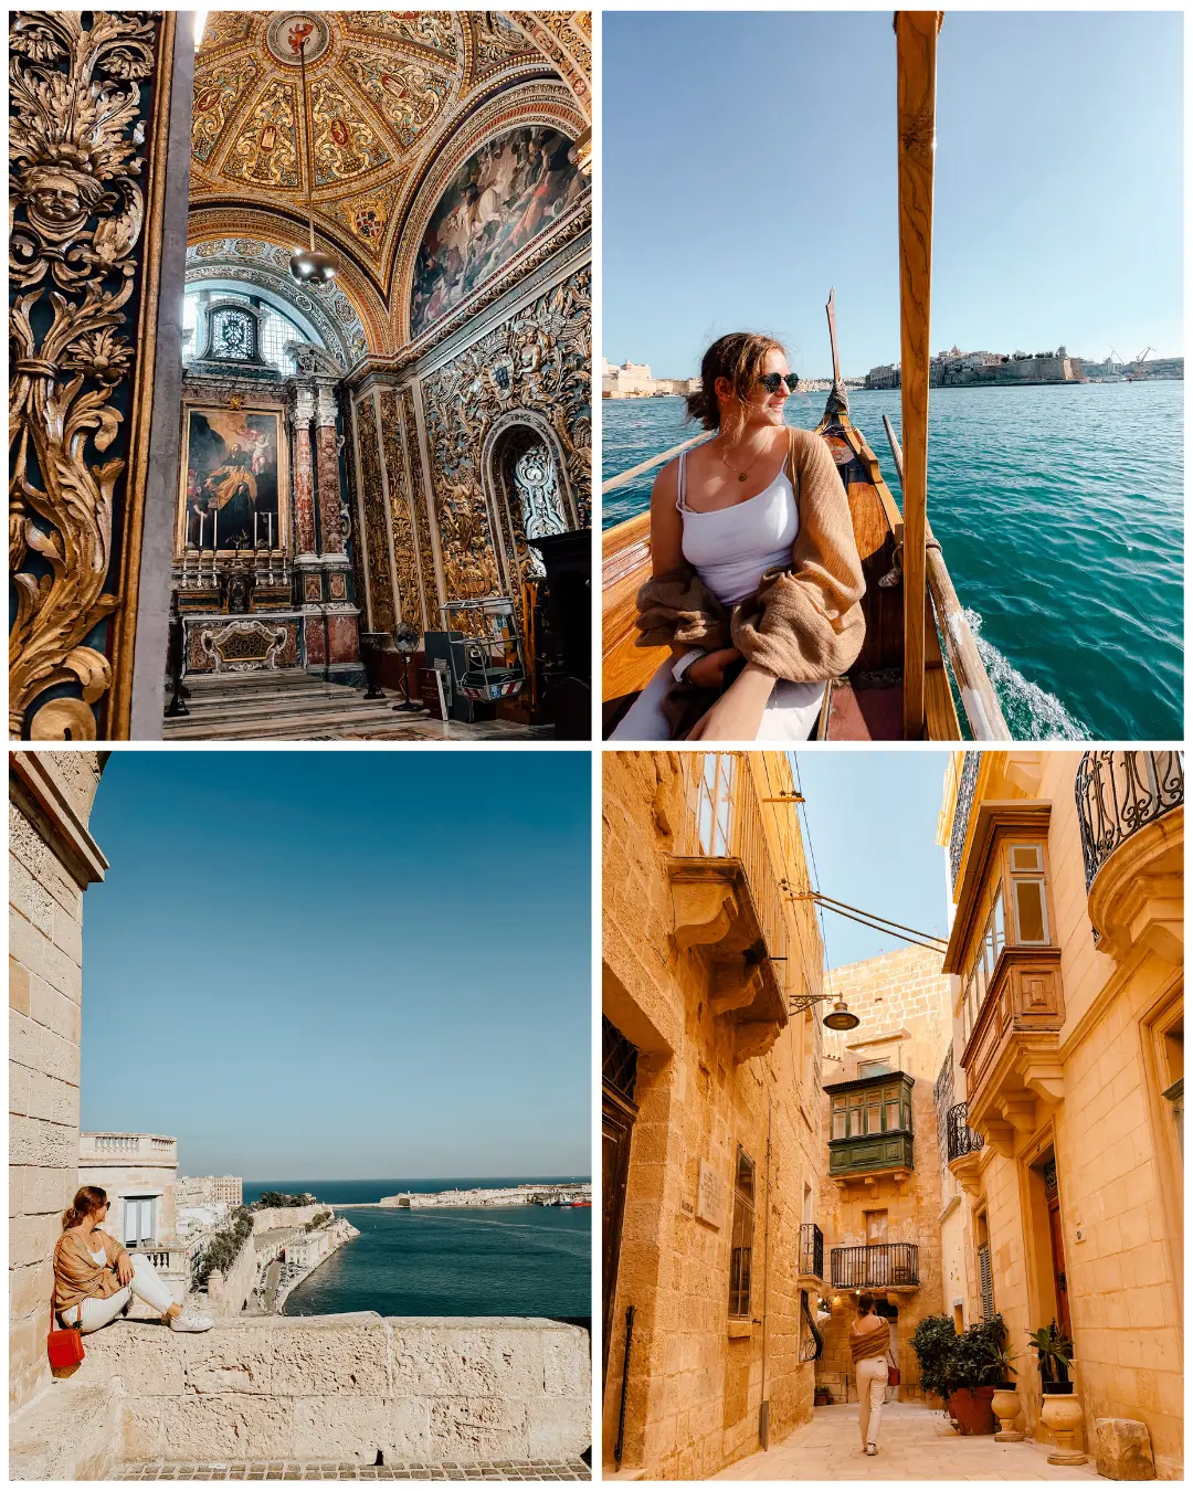
[[807, 740], [865, 638], [849, 499], [819, 435], [784, 423], [798, 377], [771, 337], [720, 337], [689, 419], [711, 438], [659, 473], [638, 643], [665, 662], [613, 740]]

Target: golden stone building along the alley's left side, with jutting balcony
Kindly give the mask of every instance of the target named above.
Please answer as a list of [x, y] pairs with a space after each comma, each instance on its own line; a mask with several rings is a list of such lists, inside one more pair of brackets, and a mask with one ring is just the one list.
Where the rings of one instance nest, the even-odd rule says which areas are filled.
[[823, 951], [786, 756], [602, 766], [602, 1455], [699, 1479], [811, 1421]]

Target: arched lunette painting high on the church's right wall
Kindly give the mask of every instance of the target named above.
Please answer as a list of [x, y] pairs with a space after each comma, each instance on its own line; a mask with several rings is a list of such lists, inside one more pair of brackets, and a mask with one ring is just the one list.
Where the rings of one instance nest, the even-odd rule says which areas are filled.
[[419, 246], [410, 298], [418, 337], [576, 201], [585, 177], [558, 130], [501, 134], [456, 171]]

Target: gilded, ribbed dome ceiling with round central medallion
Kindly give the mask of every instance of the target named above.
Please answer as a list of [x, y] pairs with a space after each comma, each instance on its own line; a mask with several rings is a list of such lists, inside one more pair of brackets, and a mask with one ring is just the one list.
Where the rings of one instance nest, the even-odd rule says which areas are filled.
[[[588, 12], [212, 12], [195, 58], [191, 242], [306, 242], [306, 39], [316, 234], [349, 256], [343, 289], [371, 330], [409, 297], [444, 163], [532, 121], [591, 119]], [[270, 222], [271, 219], [271, 222]]]

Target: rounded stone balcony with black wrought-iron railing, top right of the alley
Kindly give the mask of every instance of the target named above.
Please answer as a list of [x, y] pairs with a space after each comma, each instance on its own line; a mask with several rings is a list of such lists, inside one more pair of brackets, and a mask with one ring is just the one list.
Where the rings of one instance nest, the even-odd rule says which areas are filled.
[[1184, 765], [1175, 750], [1090, 750], [1077, 813], [1098, 947], [1123, 959], [1145, 945], [1184, 957]]

